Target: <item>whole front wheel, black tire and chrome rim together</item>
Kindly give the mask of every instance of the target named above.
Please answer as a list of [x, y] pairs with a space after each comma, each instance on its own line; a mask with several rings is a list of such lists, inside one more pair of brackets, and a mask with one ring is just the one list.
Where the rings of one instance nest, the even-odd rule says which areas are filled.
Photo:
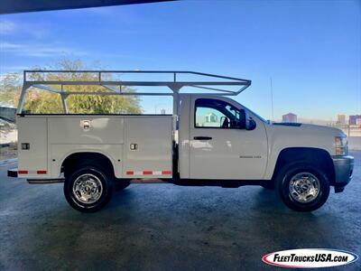
[[281, 199], [292, 210], [317, 210], [329, 198], [329, 179], [322, 169], [313, 165], [286, 166], [277, 179]]

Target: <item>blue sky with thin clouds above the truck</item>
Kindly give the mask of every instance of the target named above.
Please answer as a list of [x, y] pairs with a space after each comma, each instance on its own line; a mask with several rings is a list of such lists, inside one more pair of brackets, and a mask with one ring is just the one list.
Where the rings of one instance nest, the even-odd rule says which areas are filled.
[[[180, 1], [0, 16], [0, 73], [60, 58], [106, 69], [196, 70], [253, 83], [265, 118], [361, 114], [359, 1]], [[164, 104], [164, 106], [162, 105]], [[143, 108], [167, 107], [164, 101]], [[160, 109], [158, 109], [160, 110]]]

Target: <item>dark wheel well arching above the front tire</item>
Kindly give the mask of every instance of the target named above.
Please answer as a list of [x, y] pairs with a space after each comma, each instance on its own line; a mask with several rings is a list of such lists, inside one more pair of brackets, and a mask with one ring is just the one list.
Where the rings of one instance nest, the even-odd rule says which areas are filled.
[[325, 150], [308, 147], [292, 147], [286, 148], [278, 155], [277, 163], [274, 167], [272, 180], [277, 176], [277, 173], [286, 164], [295, 162], [307, 162], [322, 168], [329, 177], [330, 184], [335, 183], [335, 169], [332, 158]]

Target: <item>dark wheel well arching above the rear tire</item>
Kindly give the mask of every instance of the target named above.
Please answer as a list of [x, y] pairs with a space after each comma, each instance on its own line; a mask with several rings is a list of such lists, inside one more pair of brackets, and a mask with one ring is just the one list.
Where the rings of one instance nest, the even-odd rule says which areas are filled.
[[75, 168], [85, 164], [101, 166], [106, 172], [111, 173], [113, 177], [115, 176], [114, 167], [109, 158], [104, 154], [98, 153], [70, 154], [61, 164], [61, 172], [66, 175]]

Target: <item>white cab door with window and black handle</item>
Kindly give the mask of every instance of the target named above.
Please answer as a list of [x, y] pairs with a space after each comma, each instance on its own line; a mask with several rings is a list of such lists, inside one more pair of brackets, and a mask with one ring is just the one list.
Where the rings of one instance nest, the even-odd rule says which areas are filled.
[[263, 179], [267, 138], [260, 120], [245, 130], [244, 109], [228, 98], [192, 97], [190, 111], [190, 179]]

